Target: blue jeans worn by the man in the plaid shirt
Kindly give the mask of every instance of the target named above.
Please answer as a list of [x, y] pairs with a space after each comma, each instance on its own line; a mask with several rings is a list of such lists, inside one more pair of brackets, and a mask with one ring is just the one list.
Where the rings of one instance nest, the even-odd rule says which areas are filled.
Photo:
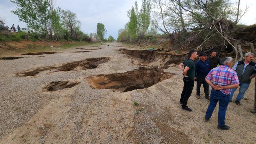
[[212, 89], [210, 94], [210, 104], [206, 111], [206, 117], [210, 118], [219, 101], [219, 113], [218, 113], [218, 124], [219, 126], [225, 125], [226, 109], [229, 103], [229, 96], [225, 95], [221, 91], [215, 91]]

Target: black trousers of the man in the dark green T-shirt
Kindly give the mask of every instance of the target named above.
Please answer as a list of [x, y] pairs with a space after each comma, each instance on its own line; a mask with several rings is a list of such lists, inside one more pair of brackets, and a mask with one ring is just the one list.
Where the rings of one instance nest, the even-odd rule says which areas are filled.
[[180, 102], [182, 102], [182, 107], [186, 107], [188, 98], [192, 94], [192, 90], [193, 90], [193, 87], [194, 87], [194, 80], [191, 80], [189, 78], [184, 77], [183, 82], [184, 82], [184, 86], [183, 86], [183, 90], [182, 90], [182, 93], [181, 93]]

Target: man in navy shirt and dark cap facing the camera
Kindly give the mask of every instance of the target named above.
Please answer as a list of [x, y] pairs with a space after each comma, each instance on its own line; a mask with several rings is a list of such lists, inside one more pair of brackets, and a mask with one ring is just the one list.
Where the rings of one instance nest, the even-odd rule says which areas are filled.
[[200, 95], [201, 95], [200, 87], [203, 84], [205, 98], [210, 100], [209, 85], [204, 80], [210, 71], [210, 62], [209, 60], [207, 60], [207, 54], [204, 52], [199, 55], [199, 58], [200, 59], [195, 64], [195, 67], [196, 67], [195, 79], [197, 81], [197, 98], [200, 99]]

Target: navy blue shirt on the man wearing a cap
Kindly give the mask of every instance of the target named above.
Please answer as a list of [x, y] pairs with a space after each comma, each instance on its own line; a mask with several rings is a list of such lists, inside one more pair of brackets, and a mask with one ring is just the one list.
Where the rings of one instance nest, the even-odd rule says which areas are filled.
[[196, 75], [207, 75], [210, 71], [210, 62], [209, 60], [206, 60], [205, 62], [203, 62], [203, 60], [198, 60], [196, 63], [195, 63], [195, 76]]

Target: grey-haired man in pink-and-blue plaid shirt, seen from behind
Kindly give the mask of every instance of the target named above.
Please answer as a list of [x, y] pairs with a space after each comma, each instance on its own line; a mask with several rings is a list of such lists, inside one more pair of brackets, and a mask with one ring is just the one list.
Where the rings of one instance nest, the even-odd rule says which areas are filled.
[[232, 58], [224, 57], [221, 59], [219, 67], [212, 69], [206, 76], [206, 82], [213, 87], [210, 95], [210, 103], [205, 115], [205, 121], [208, 122], [219, 101], [218, 113], [218, 129], [229, 129], [225, 125], [226, 109], [231, 94], [230, 89], [239, 87], [239, 80], [236, 72], [230, 67], [232, 66]]

